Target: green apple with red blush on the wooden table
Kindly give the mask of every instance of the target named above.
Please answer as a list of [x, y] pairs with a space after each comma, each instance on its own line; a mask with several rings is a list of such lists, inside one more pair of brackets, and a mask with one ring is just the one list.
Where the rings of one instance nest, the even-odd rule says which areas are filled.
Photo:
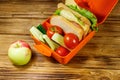
[[12, 43], [8, 49], [8, 57], [15, 65], [25, 65], [31, 59], [31, 48], [25, 41]]

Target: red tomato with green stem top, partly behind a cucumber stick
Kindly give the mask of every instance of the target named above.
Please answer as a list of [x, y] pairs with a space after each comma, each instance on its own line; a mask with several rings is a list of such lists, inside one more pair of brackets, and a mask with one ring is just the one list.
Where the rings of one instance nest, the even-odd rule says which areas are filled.
[[51, 38], [54, 33], [63, 35], [63, 30], [59, 26], [52, 26], [47, 30], [47, 35], [49, 38]]

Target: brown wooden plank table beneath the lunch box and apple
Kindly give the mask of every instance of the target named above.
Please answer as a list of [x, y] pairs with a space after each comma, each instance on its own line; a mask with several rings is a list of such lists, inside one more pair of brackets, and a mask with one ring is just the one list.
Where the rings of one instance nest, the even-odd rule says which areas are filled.
[[[94, 38], [66, 65], [39, 54], [29, 33], [32, 25], [52, 15], [57, 3], [0, 0], [0, 80], [120, 80], [120, 1]], [[31, 45], [33, 56], [25, 66], [14, 66], [8, 58], [9, 45], [16, 40]]]

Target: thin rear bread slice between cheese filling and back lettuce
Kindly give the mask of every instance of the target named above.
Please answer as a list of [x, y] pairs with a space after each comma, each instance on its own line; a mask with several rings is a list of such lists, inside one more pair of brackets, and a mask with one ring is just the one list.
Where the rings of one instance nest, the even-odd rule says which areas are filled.
[[87, 19], [86, 17], [82, 16], [78, 12], [70, 9], [69, 7], [64, 5], [63, 3], [59, 3], [58, 4], [58, 8], [62, 8], [62, 9], [68, 10], [68, 11], [72, 12], [77, 18], [79, 18], [84, 23], [84, 26], [81, 26], [83, 28], [83, 30], [84, 30], [84, 36], [87, 35], [87, 33], [88, 33], [89, 29], [90, 29], [90, 26], [91, 26], [91, 22], [89, 21], [89, 19]]

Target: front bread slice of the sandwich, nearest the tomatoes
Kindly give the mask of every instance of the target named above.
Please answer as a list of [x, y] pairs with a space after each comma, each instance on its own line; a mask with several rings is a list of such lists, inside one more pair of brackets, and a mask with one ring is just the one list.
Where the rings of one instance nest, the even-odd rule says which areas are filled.
[[58, 15], [53, 15], [50, 19], [50, 24], [61, 27], [65, 33], [74, 33], [75, 35], [78, 36], [79, 40], [82, 40], [82, 36], [84, 33], [83, 29], [76, 27], [66, 18]]

